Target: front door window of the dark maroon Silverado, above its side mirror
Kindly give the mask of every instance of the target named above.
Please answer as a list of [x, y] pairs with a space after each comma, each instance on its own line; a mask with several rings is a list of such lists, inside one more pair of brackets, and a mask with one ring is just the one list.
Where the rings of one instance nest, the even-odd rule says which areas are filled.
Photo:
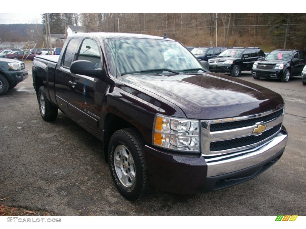
[[85, 38], [81, 45], [77, 60], [88, 60], [95, 65], [95, 69], [102, 68], [98, 44], [92, 39]]

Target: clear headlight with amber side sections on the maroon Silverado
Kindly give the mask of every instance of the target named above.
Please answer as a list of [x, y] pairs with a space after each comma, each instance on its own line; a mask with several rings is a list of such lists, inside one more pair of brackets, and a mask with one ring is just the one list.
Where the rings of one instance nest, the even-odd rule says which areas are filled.
[[199, 121], [157, 114], [153, 145], [180, 151], [200, 152]]

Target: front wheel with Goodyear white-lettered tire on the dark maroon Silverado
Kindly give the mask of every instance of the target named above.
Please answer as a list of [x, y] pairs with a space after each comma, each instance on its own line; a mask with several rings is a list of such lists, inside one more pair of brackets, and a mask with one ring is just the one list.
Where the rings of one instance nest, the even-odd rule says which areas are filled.
[[147, 184], [144, 140], [136, 129], [116, 131], [110, 138], [108, 157], [110, 174], [124, 198], [140, 200], [151, 194], [152, 189]]

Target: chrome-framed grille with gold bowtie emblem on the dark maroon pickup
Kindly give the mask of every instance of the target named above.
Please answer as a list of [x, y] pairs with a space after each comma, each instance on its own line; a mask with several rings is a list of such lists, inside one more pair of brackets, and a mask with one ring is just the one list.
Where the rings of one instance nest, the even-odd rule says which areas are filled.
[[[282, 127], [284, 108], [261, 114], [201, 121], [202, 154], [229, 154], [257, 147], [273, 138]], [[255, 131], [264, 126], [263, 132]]]

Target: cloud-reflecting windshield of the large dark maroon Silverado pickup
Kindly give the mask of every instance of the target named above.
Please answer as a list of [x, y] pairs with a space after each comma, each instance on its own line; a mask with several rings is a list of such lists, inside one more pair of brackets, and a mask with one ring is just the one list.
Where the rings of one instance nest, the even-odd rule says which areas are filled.
[[105, 42], [112, 75], [153, 70], [165, 74], [187, 69], [205, 70], [196, 57], [178, 42], [144, 38], [111, 38]]

